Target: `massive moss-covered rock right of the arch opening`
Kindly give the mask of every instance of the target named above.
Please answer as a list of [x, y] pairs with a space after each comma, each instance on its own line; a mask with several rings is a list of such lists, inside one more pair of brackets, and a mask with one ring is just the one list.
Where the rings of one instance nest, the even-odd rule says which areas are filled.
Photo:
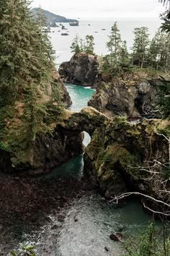
[[[84, 169], [91, 182], [109, 199], [132, 191], [158, 199], [158, 187], [153, 186], [153, 180], [148, 182], [151, 174], [138, 166], [147, 170], [157, 158], [169, 162], [168, 141], [157, 132], [166, 131], [169, 124], [161, 119], [130, 124], [122, 117], [104, 121], [103, 127], [95, 129], [84, 155]], [[166, 189], [169, 187], [167, 183]], [[169, 201], [169, 197], [165, 195], [164, 200]], [[160, 207], [152, 200], [148, 205], [155, 210]]]

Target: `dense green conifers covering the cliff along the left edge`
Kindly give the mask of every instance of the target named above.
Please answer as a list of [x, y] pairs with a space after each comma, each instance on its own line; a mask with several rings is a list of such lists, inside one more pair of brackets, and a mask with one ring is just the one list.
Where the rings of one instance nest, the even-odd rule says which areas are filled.
[[0, 4], [0, 147], [15, 165], [31, 157], [32, 142], [49, 131], [62, 106], [43, 15], [35, 21], [29, 1]]

